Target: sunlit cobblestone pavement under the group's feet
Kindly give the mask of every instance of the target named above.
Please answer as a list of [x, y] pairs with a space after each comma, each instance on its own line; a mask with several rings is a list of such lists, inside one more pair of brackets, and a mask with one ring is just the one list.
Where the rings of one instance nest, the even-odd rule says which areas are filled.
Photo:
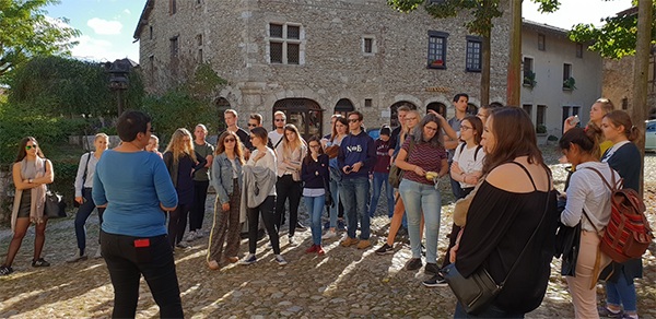
[[[553, 156], [552, 156], [553, 157]], [[551, 158], [550, 163], [554, 163]], [[645, 199], [652, 225], [656, 225], [656, 156], [645, 158]], [[564, 169], [552, 165], [557, 186], [562, 188]], [[452, 223], [453, 197], [442, 189], [441, 237]], [[203, 229], [212, 223], [214, 196], [208, 199]], [[306, 255], [311, 232], [296, 232], [301, 243], [290, 246], [281, 236], [283, 256], [290, 261], [279, 267], [272, 261], [266, 240], [258, 244], [258, 262], [244, 267], [231, 264], [211, 271], [206, 263], [207, 237], [191, 241], [192, 248], [176, 252], [177, 274], [187, 318], [452, 318], [455, 297], [448, 287], [426, 288], [429, 275], [403, 270], [411, 256], [408, 239], [397, 237], [396, 253], [376, 256], [374, 250], [387, 237], [386, 201], [379, 201], [373, 220], [373, 248], [358, 250], [339, 247], [338, 240], [325, 243], [326, 255]], [[304, 212], [305, 209], [302, 208]], [[307, 225], [307, 215], [301, 221]], [[96, 249], [98, 234], [95, 213], [89, 222], [89, 248]], [[283, 228], [282, 234], [286, 231]], [[44, 251], [52, 265], [30, 267], [34, 229], [31, 228], [14, 262], [15, 272], [0, 277], [0, 318], [109, 318], [113, 287], [102, 259], [65, 263], [75, 249], [73, 220], [52, 221], [46, 232]], [[11, 232], [0, 228], [0, 260], [4, 260]], [[440, 250], [447, 240], [441, 240]], [[241, 251], [247, 251], [242, 240]], [[636, 281], [641, 318], [656, 318], [656, 244], [644, 257], [644, 279]], [[566, 282], [559, 275], [560, 262], [552, 263], [552, 276], [542, 305], [527, 318], [573, 318]], [[599, 299], [604, 287], [597, 285]], [[159, 318], [148, 285], [142, 280], [137, 318]]]

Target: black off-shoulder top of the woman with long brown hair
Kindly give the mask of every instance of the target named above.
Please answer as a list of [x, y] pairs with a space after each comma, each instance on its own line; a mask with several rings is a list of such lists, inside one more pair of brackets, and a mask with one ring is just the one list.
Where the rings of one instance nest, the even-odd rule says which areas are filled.
[[555, 208], [554, 191], [514, 193], [488, 181], [483, 181], [471, 201], [456, 268], [469, 276], [483, 265], [497, 284], [506, 277], [542, 214], [547, 213], [522, 260], [493, 300], [505, 312], [526, 314], [542, 303], [554, 252]]

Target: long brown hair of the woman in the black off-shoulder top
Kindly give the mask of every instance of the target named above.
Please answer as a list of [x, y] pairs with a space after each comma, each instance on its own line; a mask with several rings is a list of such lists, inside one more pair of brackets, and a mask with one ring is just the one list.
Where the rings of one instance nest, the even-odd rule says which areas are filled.
[[536, 129], [524, 109], [512, 106], [494, 108], [490, 113], [488, 122], [490, 119], [493, 123], [491, 133], [496, 144], [493, 150], [489, 150], [490, 153], [485, 154], [483, 174], [519, 156], [528, 156], [529, 164], [547, 167], [542, 152], [538, 149]]

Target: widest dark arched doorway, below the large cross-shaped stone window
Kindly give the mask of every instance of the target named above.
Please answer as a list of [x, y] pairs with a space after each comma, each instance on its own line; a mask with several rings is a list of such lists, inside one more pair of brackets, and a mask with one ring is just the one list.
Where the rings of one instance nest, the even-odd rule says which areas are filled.
[[286, 115], [286, 122], [294, 125], [303, 139], [307, 140], [312, 135], [323, 134], [324, 110], [318, 103], [309, 98], [283, 98], [273, 104], [273, 113], [278, 110]]

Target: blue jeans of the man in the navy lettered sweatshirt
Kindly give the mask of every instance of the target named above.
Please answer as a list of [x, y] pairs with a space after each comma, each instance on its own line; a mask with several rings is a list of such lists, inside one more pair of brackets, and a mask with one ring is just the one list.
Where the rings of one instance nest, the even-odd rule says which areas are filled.
[[366, 211], [368, 203], [368, 178], [342, 178], [339, 184], [339, 194], [347, 215], [347, 234], [349, 238], [355, 238], [358, 221], [360, 221], [360, 239], [368, 240], [370, 216]]

